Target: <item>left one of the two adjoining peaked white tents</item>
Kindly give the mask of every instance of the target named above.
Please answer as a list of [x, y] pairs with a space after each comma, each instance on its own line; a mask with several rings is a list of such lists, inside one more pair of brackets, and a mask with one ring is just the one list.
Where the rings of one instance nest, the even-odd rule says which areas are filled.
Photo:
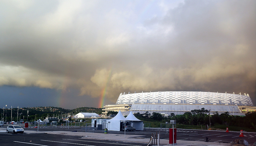
[[121, 113], [121, 111], [119, 110], [118, 114], [112, 118], [106, 121], [106, 123], [108, 123], [108, 130], [110, 131], [120, 131], [120, 125], [121, 122], [123, 121], [129, 121], [127, 120]]

